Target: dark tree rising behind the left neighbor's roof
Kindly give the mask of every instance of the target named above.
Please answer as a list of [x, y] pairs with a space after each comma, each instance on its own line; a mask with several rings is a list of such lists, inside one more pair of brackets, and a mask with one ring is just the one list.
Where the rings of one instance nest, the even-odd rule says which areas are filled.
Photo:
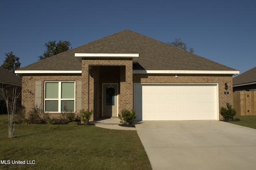
[[5, 61], [4, 64], [2, 64], [2, 67], [14, 73], [14, 70], [20, 68], [20, 58], [16, 57], [12, 51], [10, 53], [5, 53], [5, 56]]

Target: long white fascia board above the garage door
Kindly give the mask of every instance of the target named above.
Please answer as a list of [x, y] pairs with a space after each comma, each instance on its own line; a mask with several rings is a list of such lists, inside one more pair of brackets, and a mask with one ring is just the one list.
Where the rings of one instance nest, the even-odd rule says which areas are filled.
[[133, 70], [133, 74], [239, 74], [238, 70]]

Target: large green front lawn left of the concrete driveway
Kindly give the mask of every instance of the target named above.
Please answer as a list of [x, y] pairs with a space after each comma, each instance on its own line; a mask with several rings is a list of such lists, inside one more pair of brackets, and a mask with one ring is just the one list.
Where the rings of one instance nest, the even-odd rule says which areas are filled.
[[15, 125], [8, 139], [7, 115], [0, 115], [0, 169], [150, 170], [136, 131], [78, 125]]

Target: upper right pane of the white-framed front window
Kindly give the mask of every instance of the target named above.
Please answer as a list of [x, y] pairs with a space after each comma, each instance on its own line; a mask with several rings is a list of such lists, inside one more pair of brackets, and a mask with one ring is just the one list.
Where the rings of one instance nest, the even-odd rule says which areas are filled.
[[75, 98], [75, 83], [74, 82], [62, 82], [61, 83], [61, 98], [62, 99], [74, 99]]

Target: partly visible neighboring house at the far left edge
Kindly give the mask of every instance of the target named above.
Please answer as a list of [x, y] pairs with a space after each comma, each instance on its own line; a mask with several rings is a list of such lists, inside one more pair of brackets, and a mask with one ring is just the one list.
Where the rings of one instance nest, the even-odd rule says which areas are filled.
[[[21, 86], [21, 78], [0, 66], [0, 88]], [[1, 93], [1, 92], [0, 92]], [[4, 97], [0, 94], [0, 113], [6, 113]]]

